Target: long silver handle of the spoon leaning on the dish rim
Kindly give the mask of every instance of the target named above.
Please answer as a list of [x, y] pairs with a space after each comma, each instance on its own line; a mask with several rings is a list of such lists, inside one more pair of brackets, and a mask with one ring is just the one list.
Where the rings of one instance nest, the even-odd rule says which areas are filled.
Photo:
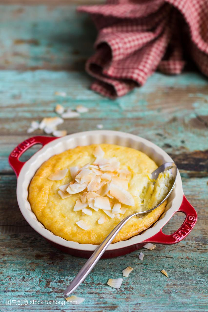
[[96, 248], [96, 250], [93, 252], [92, 256], [87, 260], [85, 265], [82, 267], [82, 269], [79, 271], [77, 276], [72, 280], [70, 285], [67, 287], [66, 291], [64, 292], [64, 295], [71, 294], [78, 286], [82, 283], [82, 281], [87, 277], [87, 275], [92, 271], [94, 266], [96, 265], [97, 261], [100, 259], [106, 248], [110, 245], [111, 241], [114, 239], [114, 237], [117, 235], [117, 233], [121, 230], [121, 228], [124, 226], [124, 224], [131, 219], [131, 217], [134, 217], [138, 214], [138, 212], [131, 214], [130, 216], [127, 216], [124, 218], [121, 222], [119, 222], [116, 227], [108, 234], [108, 236], [104, 239], [104, 241]]

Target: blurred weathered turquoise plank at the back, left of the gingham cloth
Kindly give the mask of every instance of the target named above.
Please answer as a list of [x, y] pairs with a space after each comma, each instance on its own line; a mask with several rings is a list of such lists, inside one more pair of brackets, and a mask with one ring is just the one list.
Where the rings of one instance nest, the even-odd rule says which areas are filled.
[[76, 5], [0, 5], [0, 12], [0, 69], [84, 69], [96, 30]]

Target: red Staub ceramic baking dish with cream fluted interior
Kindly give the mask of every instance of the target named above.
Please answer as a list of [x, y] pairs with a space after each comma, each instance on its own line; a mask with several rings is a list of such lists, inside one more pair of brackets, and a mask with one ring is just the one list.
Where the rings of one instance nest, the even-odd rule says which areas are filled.
[[[40, 235], [47, 239], [53, 246], [74, 256], [88, 258], [96, 249], [96, 245], [79, 244], [75, 241], [67, 241], [60, 236], [48, 231], [36, 218], [27, 200], [28, 186], [32, 177], [41, 164], [55, 154], [62, 153], [67, 149], [78, 145], [89, 144], [118, 144], [138, 149], [152, 158], [158, 166], [162, 163], [173, 161], [161, 148], [150, 141], [133, 134], [96, 130], [70, 134], [62, 138], [35, 136], [20, 143], [9, 155], [9, 163], [17, 175], [17, 201], [23, 217], [30, 226]], [[27, 162], [19, 161], [19, 157], [32, 145], [42, 144], [42, 148]], [[163, 226], [176, 212], [184, 212], [186, 218], [181, 227], [172, 235], [162, 232]], [[133, 236], [126, 241], [111, 244], [105, 251], [103, 258], [112, 258], [125, 255], [143, 247], [147, 242], [159, 244], [175, 244], [184, 239], [196, 224], [197, 214], [195, 209], [187, 201], [182, 188], [181, 176], [178, 172], [176, 186], [168, 198], [165, 212], [160, 219], [149, 229]]]

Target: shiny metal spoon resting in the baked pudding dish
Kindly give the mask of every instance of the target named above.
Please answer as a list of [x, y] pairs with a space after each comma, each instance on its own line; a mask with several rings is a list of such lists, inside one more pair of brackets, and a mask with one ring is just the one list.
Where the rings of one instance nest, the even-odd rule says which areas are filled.
[[146, 210], [146, 211], [141, 211], [141, 212], [135, 212], [132, 213], [130, 216], [127, 216], [124, 218], [121, 222], [119, 222], [116, 227], [111, 231], [110, 234], [104, 239], [104, 241], [96, 248], [96, 250], [93, 252], [92, 256], [87, 260], [85, 265], [82, 267], [82, 269], [79, 271], [77, 276], [72, 280], [70, 285], [67, 287], [66, 291], [64, 292], [64, 295], [67, 296], [71, 294], [78, 286], [79, 284], [82, 283], [82, 281], [86, 278], [86, 276], [92, 271], [93, 267], [96, 265], [97, 261], [100, 259], [106, 248], [110, 245], [111, 241], [114, 239], [114, 237], [118, 234], [118, 232], [121, 230], [121, 228], [126, 224], [126, 222], [131, 219], [132, 217], [135, 217], [139, 214], [142, 213], [147, 213], [150, 212], [154, 209], [156, 209], [158, 206], [160, 206], [171, 194], [175, 182], [176, 182], [176, 175], [177, 175], [177, 167], [175, 163], [164, 163], [160, 167], [158, 167], [155, 171], [152, 172], [152, 179], [157, 179], [159, 173], [165, 171], [165, 170], [170, 170], [173, 176], [173, 184], [171, 187], [171, 190], [169, 193], [166, 195], [166, 197], [154, 208]]

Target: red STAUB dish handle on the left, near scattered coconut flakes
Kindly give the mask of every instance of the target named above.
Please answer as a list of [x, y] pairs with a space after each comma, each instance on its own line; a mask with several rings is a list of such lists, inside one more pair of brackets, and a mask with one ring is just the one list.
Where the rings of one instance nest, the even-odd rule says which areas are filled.
[[15, 149], [12, 151], [12, 153], [9, 155], [9, 164], [16, 173], [16, 176], [18, 177], [20, 170], [22, 169], [25, 162], [19, 161], [20, 156], [27, 151], [32, 145], [35, 144], [42, 144], [42, 146], [46, 145], [47, 143], [56, 140], [58, 138], [54, 137], [46, 137], [46, 136], [35, 136], [32, 138], [29, 138], [19, 145], [15, 147]]

